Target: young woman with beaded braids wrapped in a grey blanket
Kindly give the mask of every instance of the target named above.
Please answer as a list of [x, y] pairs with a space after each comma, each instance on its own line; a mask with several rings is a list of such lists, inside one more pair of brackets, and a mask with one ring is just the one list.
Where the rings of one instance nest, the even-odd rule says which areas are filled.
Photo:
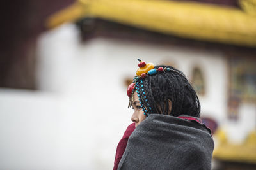
[[211, 169], [214, 142], [186, 76], [139, 61], [127, 88], [134, 124], [118, 144], [114, 169]]

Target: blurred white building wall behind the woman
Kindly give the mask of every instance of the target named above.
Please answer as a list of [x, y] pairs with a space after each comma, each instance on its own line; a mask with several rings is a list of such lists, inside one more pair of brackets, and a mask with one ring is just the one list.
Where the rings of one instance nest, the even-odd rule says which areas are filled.
[[200, 64], [202, 114], [225, 120], [221, 53], [104, 38], [81, 44], [76, 27], [63, 25], [41, 36], [38, 56], [40, 91], [0, 90], [0, 169], [112, 169], [131, 124], [124, 78], [134, 76], [138, 58], [170, 60], [188, 77]]

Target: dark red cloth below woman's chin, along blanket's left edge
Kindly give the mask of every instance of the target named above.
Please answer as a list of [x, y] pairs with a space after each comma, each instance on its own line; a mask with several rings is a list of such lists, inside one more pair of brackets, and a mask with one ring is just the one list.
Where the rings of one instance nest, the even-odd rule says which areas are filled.
[[129, 136], [132, 134], [132, 132], [135, 129], [135, 123], [132, 123], [131, 125], [129, 125], [126, 129], [126, 131], [124, 132], [124, 136], [123, 138], [120, 140], [120, 142], [117, 145], [116, 148], [116, 157], [115, 157], [115, 163], [114, 163], [114, 168], [113, 170], [116, 170], [118, 167], [118, 164], [124, 154], [126, 145], [127, 145], [127, 141]]

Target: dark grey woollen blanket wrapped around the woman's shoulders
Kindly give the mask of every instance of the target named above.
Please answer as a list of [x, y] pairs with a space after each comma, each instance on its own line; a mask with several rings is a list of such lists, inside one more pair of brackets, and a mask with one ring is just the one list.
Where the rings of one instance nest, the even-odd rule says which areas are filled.
[[211, 169], [213, 148], [205, 125], [151, 114], [132, 132], [118, 169]]

